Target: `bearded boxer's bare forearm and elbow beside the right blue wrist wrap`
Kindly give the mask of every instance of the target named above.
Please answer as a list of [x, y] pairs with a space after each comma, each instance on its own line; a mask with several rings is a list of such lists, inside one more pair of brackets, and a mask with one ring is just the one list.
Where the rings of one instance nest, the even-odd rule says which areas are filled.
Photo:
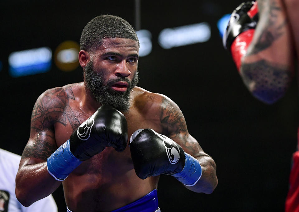
[[218, 179], [216, 176], [216, 163], [207, 154], [197, 157], [196, 159], [199, 161], [202, 167], [202, 176], [194, 186], [185, 187], [194, 192], [211, 194], [218, 184]]

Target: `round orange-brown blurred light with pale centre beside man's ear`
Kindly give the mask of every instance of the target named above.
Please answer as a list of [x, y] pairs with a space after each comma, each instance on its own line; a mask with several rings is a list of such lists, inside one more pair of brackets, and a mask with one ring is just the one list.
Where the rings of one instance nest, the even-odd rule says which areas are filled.
[[55, 65], [62, 71], [73, 71], [79, 66], [80, 46], [72, 40], [59, 44], [54, 53]]

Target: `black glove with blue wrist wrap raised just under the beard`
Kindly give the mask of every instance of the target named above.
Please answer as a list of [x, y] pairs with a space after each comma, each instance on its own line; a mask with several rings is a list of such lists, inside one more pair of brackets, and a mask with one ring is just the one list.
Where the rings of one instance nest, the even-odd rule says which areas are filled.
[[106, 147], [125, 150], [128, 139], [125, 116], [115, 108], [103, 105], [84, 121], [47, 159], [48, 172], [63, 181], [82, 163], [102, 152]]

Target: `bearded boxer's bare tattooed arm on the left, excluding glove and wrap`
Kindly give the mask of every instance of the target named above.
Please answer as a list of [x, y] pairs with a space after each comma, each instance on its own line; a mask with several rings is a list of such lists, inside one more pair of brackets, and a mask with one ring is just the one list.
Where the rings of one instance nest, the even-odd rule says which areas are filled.
[[48, 109], [41, 95], [36, 101], [31, 116], [31, 133], [23, 151], [16, 177], [16, 196], [24, 206], [49, 196], [61, 181], [56, 181], [47, 171], [47, 158], [57, 149], [54, 128], [46, 116]]

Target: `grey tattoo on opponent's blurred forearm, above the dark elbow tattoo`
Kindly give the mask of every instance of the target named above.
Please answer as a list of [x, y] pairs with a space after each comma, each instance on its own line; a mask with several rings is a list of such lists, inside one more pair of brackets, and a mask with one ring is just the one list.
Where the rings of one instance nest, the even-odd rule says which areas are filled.
[[276, 1], [271, 1], [271, 3], [270, 0], [260, 1], [259, 11], [260, 14], [263, 12], [259, 22], [264, 25], [259, 27], [258, 23], [255, 31], [258, 36], [253, 40], [253, 48], [248, 49], [247, 55], [256, 54], [267, 49], [286, 32], [287, 19], [279, 21], [278, 14], [282, 12], [282, 8]]

